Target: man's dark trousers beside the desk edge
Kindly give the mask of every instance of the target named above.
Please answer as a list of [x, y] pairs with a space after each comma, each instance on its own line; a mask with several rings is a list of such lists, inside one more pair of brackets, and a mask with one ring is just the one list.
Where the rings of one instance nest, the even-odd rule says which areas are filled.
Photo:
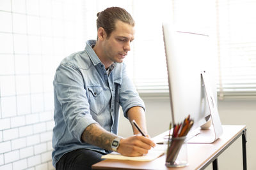
[[73, 150], [72, 152], [65, 153], [61, 157], [56, 164], [56, 170], [89, 170], [92, 169], [93, 164], [104, 160], [101, 159], [101, 156], [104, 154], [105, 153], [86, 149]]

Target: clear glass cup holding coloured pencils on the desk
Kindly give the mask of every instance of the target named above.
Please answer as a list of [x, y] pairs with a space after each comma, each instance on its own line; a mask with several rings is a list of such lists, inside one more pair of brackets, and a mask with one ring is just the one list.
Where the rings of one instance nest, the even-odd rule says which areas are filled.
[[167, 151], [165, 165], [167, 167], [188, 166], [188, 148], [185, 143], [186, 136], [171, 138]]

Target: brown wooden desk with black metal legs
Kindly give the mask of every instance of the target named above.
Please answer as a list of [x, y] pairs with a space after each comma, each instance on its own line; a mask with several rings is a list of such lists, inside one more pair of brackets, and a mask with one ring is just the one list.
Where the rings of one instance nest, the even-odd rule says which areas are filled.
[[[167, 131], [166, 131], [167, 132]], [[155, 138], [163, 138], [164, 134]], [[211, 144], [188, 143], [188, 162], [183, 169], [204, 169], [212, 163], [213, 169], [218, 169], [218, 156], [224, 152], [228, 146], [232, 145], [237, 138], [243, 139], [243, 168], [246, 169], [246, 127], [244, 125], [223, 125], [223, 134], [220, 139]], [[165, 166], [166, 155], [163, 155], [151, 162], [138, 162], [131, 160], [103, 160], [94, 164], [92, 169], [175, 169]]]

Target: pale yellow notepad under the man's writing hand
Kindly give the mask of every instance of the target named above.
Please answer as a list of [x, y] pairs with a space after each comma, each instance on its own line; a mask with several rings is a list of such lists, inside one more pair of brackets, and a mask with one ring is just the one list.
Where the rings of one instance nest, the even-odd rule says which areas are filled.
[[121, 155], [120, 153], [117, 152], [111, 152], [107, 155], [103, 155], [101, 158], [102, 159], [119, 159], [119, 160], [136, 160], [136, 161], [151, 161], [154, 159], [157, 159], [163, 153], [165, 152], [165, 149], [162, 146], [156, 146], [155, 148], [152, 148], [151, 150], [148, 151], [146, 155], [140, 156], [140, 157], [127, 157], [124, 155]]

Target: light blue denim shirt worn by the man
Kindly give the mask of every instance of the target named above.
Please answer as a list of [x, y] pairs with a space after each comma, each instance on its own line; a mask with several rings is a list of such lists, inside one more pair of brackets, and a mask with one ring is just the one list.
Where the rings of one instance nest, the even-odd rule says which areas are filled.
[[84, 143], [81, 135], [88, 125], [97, 123], [117, 134], [119, 106], [124, 116], [133, 106], [145, 105], [129, 79], [124, 63], [114, 63], [107, 71], [92, 49], [95, 40], [86, 42], [85, 50], [61, 61], [54, 77], [54, 122], [52, 164], [78, 148], [108, 152]]

